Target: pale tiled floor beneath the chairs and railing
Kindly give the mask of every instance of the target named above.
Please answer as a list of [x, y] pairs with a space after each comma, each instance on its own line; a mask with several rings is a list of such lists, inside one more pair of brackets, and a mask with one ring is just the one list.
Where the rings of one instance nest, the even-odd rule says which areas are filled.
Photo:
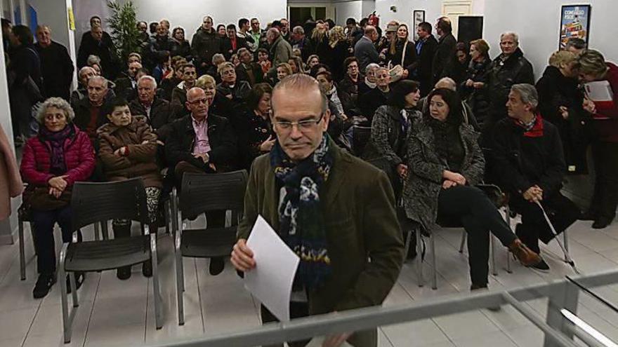
[[[28, 235], [28, 232], [27, 232]], [[58, 236], [58, 234], [56, 234]], [[569, 230], [570, 249], [582, 273], [618, 267], [618, 223], [603, 231], [590, 228], [590, 222], [577, 222]], [[88, 238], [86, 233], [86, 238]], [[414, 304], [430, 297], [467, 295], [466, 252], [459, 254], [461, 231], [445, 229], [436, 236], [438, 290], [430, 285], [418, 287], [415, 266], [405, 264], [385, 306]], [[59, 285], [48, 296], [32, 299], [36, 281], [36, 262], [32, 242], [27, 237], [27, 280], [19, 280], [18, 245], [0, 246], [0, 346], [64, 346]], [[58, 245], [59, 247], [60, 245]], [[143, 278], [140, 266], [133, 267], [130, 280], [117, 280], [114, 271], [89, 273], [79, 290], [80, 306], [74, 320], [72, 343], [67, 346], [138, 346], [194, 336], [220, 334], [260, 325], [259, 305], [244, 290], [241, 280], [228, 264], [216, 277], [207, 272], [204, 259], [184, 259], [185, 325], [178, 326], [176, 281], [172, 243], [159, 237], [159, 271], [164, 303], [165, 325], [155, 329], [152, 285]], [[572, 274], [560, 261], [560, 248], [553, 241], [544, 247], [550, 273], [537, 273], [513, 264], [506, 273], [506, 250], [497, 252], [499, 274], [491, 276], [490, 290], [521, 287], [563, 278]], [[425, 266], [426, 278], [430, 271]], [[618, 285], [597, 290], [618, 303]], [[539, 315], [546, 314], [546, 299], [528, 304]], [[612, 339], [618, 339], [618, 315], [582, 294], [579, 315]], [[416, 322], [381, 327], [379, 345], [385, 347], [426, 346], [542, 346], [543, 334], [510, 306], [501, 311], [471, 311]]]

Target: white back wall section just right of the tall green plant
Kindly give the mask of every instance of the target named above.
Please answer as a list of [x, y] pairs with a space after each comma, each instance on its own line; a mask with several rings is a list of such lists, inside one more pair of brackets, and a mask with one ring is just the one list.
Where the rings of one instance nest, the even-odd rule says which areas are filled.
[[[125, 0], [119, 0], [124, 2]], [[132, 0], [138, 9], [138, 20], [146, 22], [166, 18], [174, 27], [183, 27], [185, 35], [191, 37], [202, 25], [204, 15], [210, 15], [214, 25], [235, 24], [240, 18], [256, 17], [263, 27], [267, 22], [287, 17], [286, 0]]]

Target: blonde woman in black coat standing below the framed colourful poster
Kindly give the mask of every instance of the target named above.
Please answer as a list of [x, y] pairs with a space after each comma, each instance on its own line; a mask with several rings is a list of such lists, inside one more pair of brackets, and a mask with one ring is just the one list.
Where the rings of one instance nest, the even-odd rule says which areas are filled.
[[591, 114], [584, 111], [584, 93], [577, 87], [576, 58], [565, 50], [553, 53], [536, 87], [541, 116], [558, 128], [567, 172], [581, 175], [588, 172], [586, 149], [593, 124]]

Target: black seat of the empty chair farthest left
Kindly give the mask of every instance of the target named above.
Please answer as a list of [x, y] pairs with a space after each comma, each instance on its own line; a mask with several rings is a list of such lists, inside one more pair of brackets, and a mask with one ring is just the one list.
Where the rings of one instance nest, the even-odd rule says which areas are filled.
[[70, 243], [66, 271], [103, 271], [150, 259], [150, 236]]

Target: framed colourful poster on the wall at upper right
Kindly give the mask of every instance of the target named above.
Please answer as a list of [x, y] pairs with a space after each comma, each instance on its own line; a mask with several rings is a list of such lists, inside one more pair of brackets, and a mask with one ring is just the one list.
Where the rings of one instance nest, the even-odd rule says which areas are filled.
[[577, 37], [588, 41], [590, 37], [590, 5], [567, 5], [560, 11], [560, 44], [559, 49], [567, 46], [567, 41]]

